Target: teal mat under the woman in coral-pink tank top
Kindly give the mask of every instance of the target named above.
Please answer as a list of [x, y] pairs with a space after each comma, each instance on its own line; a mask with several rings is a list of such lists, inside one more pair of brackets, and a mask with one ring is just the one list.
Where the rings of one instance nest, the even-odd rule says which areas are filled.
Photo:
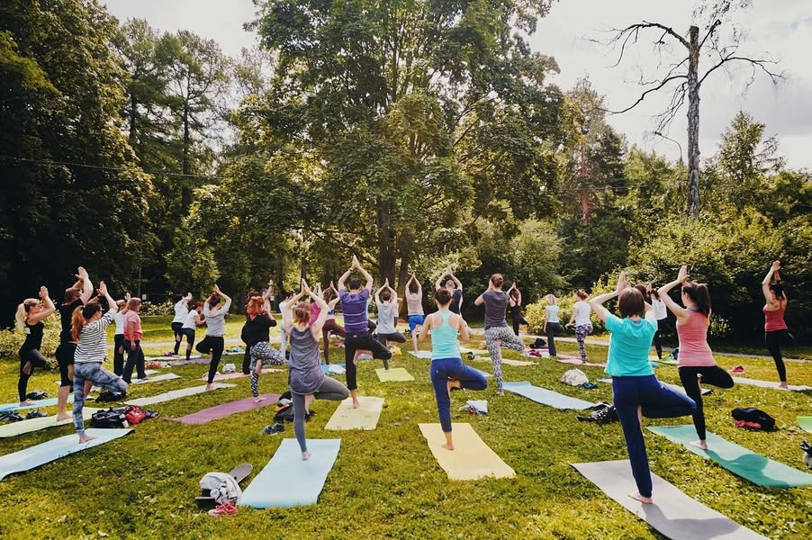
[[754, 484], [768, 488], [796, 488], [812, 484], [812, 474], [798, 471], [785, 464], [755, 454], [744, 446], [726, 441], [708, 431], [708, 450], [690, 444], [697, 440], [697, 432], [692, 424], [685, 426], [665, 426], [648, 428], [652, 433], [662, 435], [674, 443], [680, 443], [696, 455], [708, 457], [722, 465], [731, 473], [741, 476]]

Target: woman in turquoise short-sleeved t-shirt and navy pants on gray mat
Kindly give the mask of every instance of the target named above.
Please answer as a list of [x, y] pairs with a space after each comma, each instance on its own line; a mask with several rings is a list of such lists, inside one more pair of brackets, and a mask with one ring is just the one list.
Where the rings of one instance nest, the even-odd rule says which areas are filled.
[[[619, 297], [619, 318], [602, 305], [616, 296]], [[664, 419], [688, 416], [696, 410], [696, 404], [681, 392], [664, 386], [654, 376], [648, 350], [657, 329], [657, 320], [651, 306], [644, 302], [643, 295], [628, 286], [625, 273], [620, 273], [614, 293], [596, 296], [591, 299], [590, 306], [611, 332], [606, 373], [612, 376], [612, 401], [618, 411], [632, 475], [637, 484], [637, 491], [629, 493], [629, 497], [651, 504], [652, 481], [645, 454], [643, 417]]]

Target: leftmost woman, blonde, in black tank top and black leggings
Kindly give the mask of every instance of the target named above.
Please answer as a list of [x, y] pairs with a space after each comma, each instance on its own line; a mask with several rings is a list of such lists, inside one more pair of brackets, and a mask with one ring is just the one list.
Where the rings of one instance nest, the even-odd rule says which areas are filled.
[[[40, 301], [45, 304], [44, 307]], [[20, 347], [20, 378], [17, 381], [17, 393], [20, 397], [21, 407], [31, 405], [25, 395], [28, 393], [28, 380], [34, 373], [34, 368], [47, 365], [45, 356], [42, 356], [40, 352], [42, 334], [45, 330], [45, 323], [42, 321], [48, 319], [54, 311], [57, 311], [57, 308], [50, 300], [48, 289], [44, 286], [40, 287], [40, 300], [28, 298], [17, 306], [14, 320], [16, 320], [17, 329], [25, 334], [25, 341]]]

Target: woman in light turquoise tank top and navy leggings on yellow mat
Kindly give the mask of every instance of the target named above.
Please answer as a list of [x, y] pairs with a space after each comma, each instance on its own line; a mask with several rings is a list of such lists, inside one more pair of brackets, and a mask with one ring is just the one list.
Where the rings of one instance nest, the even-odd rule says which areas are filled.
[[451, 438], [451, 391], [463, 388], [484, 390], [488, 387], [483, 374], [463, 364], [459, 339], [468, 340], [468, 325], [462, 317], [449, 310], [452, 299], [447, 289], [438, 289], [435, 293], [438, 311], [426, 318], [420, 330], [420, 339], [427, 338], [431, 331], [431, 384], [437, 398], [440, 426], [446, 434], [443, 448], [447, 450], [454, 450]]

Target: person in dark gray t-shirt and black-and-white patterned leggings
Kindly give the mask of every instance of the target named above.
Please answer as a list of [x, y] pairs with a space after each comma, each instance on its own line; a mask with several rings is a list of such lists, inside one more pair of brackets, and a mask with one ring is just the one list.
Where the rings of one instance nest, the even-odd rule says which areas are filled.
[[[504, 283], [501, 274], [491, 276], [488, 289], [474, 301], [475, 306], [485, 304], [485, 345], [491, 354], [493, 378], [496, 380], [496, 392], [503, 396], [501, 378], [501, 347], [514, 351], [525, 350], [524, 342], [510, 330], [505, 322], [505, 311], [508, 307], [508, 294], [501, 290]], [[449, 306], [450, 309], [450, 306]]]

